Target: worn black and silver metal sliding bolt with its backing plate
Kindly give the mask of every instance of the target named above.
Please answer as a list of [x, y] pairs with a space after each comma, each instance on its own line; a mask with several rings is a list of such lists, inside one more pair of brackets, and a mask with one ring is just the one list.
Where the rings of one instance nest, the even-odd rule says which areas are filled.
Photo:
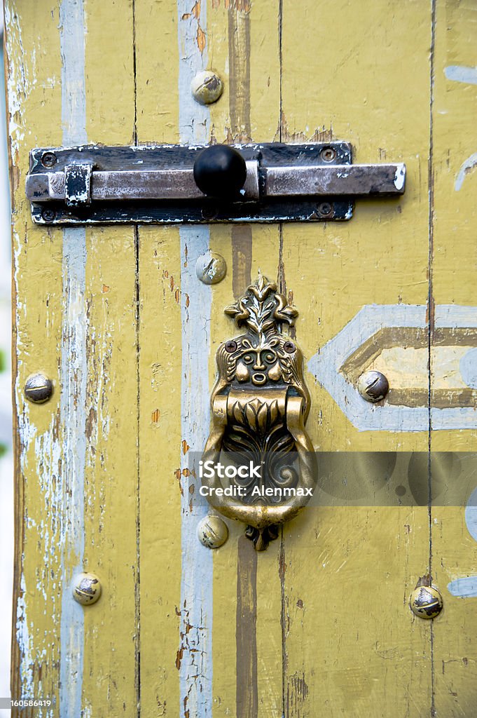
[[[230, 154], [230, 167], [223, 166], [223, 158], [214, 160], [214, 147], [216, 155], [217, 147], [223, 149], [226, 165]], [[234, 148], [34, 149], [26, 187], [32, 218], [47, 225], [349, 220], [353, 197], [401, 195], [405, 190], [404, 164], [351, 164], [346, 142]], [[202, 165], [206, 159], [202, 174], [199, 157]], [[227, 182], [237, 180], [237, 167], [240, 190], [235, 181], [219, 197], [202, 191], [211, 179], [227, 190]], [[201, 182], [204, 173], [206, 182]]]

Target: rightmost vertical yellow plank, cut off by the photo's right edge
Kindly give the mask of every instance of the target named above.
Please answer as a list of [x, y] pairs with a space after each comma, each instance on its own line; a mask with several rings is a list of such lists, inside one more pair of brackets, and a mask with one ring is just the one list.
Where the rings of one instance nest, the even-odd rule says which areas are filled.
[[[433, 579], [443, 594], [444, 609], [433, 622], [435, 715], [465, 716], [477, 697], [477, 533], [471, 505], [475, 505], [477, 432], [475, 398], [468, 406], [466, 393], [475, 388], [472, 327], [476, 326], [476, 136], [477, 111], [475, 55], [477, 9], [471, 2], [435, 3], [433, 75], [433, 345], [430, 350], [433, 452], [463, 452], [455, 457], [460, 470], [450, 474], [452, 454], [434, 454], [432, 483]], [[466, 309], [468, 307], [468, 309]], [[450, 327], [443, 335], [443, 318]], [[446, 340], [447, 341], [443, 341]], [[441, 345], [450, 344], [447, 355]], [[442, 351], [442, 350], [441, 350]], [[443, 365], [443, 360], [447, 362]], [[469, 367], [466, 370], [466, 367]], [[453, 370], [455, 368], [455, 370]], [[444, 375], [444, 378], [443, 378]], [[439, 398], [447, 387], [461, 393], [454, 409], [443, 419]], [[455, 396], [455, 394], [454, 394]], [[461, 404], [461, 408], [459, 408]], [[445, 430], [446, 422], [448, 430]], [[473, 428], [472, 428], [473, 427]], [[466, 477], [470, 481], [466, 481]], [[442, 505], [440, 485], [450, 495], [461, 486], [455, 505]], [[455, 486], [457, 484], [457, 486]], [[466, 503], [469, 507], [466, 508]], [[445, 502], [447, 503], [447, 502]], [[472, 587], [474, 587], [472, 589]]]

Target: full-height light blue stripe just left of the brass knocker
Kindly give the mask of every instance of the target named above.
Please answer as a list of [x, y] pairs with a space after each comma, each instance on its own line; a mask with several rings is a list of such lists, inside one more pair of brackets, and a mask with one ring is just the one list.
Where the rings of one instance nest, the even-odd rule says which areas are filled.
[[[205, 31], [206, 4], [201, 5], [200, 25]], [[198, 23], [191, 15], [191, 4], [178, 0], [179, 33], [179, 133], [183, 143], [207, 143], [209, 111], [192, 98], [190, 83], [194, 75], [207, 67], [207, 48], [201, 55], [197, 47]], [[182, 19], [184, 15], [189, 15]], [[194, 503], [199, 495], [194, 484], [198, 467], [189, 465], [189, 457], [199, 455], [209, 434], [209, 354], [212, 290], [197, 279], [197, 258], [209, 248], [207, 227], [181, 227], [181, 320], [182, 387], [181, 435], [189, 446], [182, 457], [181, 498], [181, 622], [179, 668], [179, 715], [190, 718], [212, 716], [212, 551], [197, 538], [197, 523], [207, 509]], [[191, 460], [192, 461], [192, 460]], [[191, 508], [192, 507], [192, 508]]]

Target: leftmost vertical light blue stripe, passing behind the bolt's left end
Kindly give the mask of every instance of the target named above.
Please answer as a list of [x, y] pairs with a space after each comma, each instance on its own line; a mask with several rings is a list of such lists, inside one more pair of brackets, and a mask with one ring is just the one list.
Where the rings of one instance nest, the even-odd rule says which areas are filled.
[[[85, 144], [85, 15], [82, 0], [62, 0], [62, 139]], [[81, 714], [83, 609], [72, 597], [72, 578], [82, 571], [86, 455], [86, 232], [63, 230], [63, 327], [60, 414], [65, 446], [62, 473], [62, 612], [60, 624], [60, 716]], [[67, 566], [73, 565], [70, 569]]]

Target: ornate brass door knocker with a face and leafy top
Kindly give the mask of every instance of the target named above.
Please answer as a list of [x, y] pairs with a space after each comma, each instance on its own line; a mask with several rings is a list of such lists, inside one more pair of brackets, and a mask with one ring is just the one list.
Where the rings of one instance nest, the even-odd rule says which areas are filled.
[[217, 351], [202, 486], [214, 508], [248, 524], [247, 536], [263, 550], [278, 536], [277, 524], [293, 518], [316, 485], [313, 444], [304, 428], [310, 396], [303, 356], [280, 333], [298, 312], [260, 276], [225, 313], [245, 333]]

